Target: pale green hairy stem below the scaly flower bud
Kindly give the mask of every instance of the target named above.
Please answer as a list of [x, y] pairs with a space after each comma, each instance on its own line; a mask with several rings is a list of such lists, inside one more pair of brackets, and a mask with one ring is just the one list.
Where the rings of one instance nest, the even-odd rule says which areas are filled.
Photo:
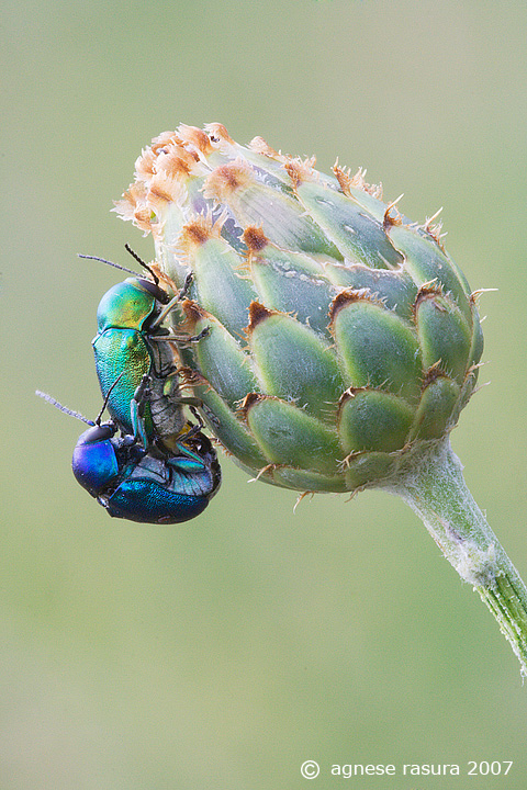
[[527, 588], [464, 483], [448, 438], [422, 447], [385, 489], [419, 516], [446, 558], [480, 594], [527, 675]]

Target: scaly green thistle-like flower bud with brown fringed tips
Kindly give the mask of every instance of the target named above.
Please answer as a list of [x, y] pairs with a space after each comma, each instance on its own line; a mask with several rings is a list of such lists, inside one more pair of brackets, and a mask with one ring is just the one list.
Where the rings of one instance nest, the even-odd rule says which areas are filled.
[[184, 362], [250, 474], [354, 492], [456, 425], [482, 352], [475, 301], [438, 229], [362, 171], [180, 126], [143, 153], [117, 210], [153, 233], [176, 287], [192, 271], [187, 328], [210, 334]]

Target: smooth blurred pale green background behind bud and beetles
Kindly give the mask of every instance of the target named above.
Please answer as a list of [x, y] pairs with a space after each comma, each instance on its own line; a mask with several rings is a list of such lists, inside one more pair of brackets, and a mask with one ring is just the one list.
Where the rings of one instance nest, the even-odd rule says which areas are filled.
[[[90, 340], [130, 241], [110, 214], [141, 148], [221, 121], [321, 169], [368, 167], [449, 252], [481, 311], [491, 381], [453, 445], [524, 578], [525, 2], [7, 0], [2, 11], [2, 790], [293, 790], [333, 764], [514, 760], [505, 777], [365, 777], [363, 788], [527, 783], [518, 665], [403, 503], [247, 484], [173, 528], [111, 521], [69, 469], [100, 406]], [[7, 443], [5, 443], [7, 440]]]

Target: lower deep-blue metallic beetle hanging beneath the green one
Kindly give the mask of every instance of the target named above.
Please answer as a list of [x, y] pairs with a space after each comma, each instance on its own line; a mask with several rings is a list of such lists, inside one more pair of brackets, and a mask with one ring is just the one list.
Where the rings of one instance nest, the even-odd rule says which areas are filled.
[[[188, 424], [173, 452], [157, 441], [145, 448], [132, 435], [116, 437], [115, 421], [101, 424], [105, 404], [91, 421], [49, 395], [36, 394], [90, 426], [75, 445], [71, 465], [78, 483], [110, 516], [142, 523], [180, 523], [199, 516], [216, 494], [220, 464], [201, 426]], [[142, 397], [137, 396], [139, 406]]]

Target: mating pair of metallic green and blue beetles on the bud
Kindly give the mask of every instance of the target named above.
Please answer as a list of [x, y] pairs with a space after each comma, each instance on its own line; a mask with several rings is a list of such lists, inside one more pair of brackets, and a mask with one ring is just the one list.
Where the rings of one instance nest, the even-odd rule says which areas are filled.
[[[99, 304], [92, 345], [104, 404], [96, 421], [37, 394], [90, 426], [77, 441], [72, 470], [110, 516], [178, 523], [199, 516], [221, 483], [216, 453], [200, 430], [203, 424], [197, 408], [202, 404], [181, 396], [170, 347], [171, 342], [198, 341], [206, 332], [190, 337], [161, 327], [190, 280], [170, 300], [155, 273], [139, 262], [154, 282], [128, 278], [110, 289]], [[187, 421], [183, 405], [198, 417], [198, 425]], [[104, 408], [112, 419], [101, 424]]]

